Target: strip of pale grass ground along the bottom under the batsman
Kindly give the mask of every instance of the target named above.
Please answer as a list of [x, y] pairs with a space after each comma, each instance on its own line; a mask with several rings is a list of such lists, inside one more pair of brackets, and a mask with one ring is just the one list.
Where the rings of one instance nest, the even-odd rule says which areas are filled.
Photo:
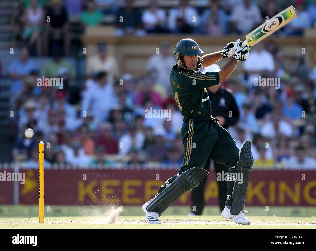
[[[45, 208], [46, 205], [45, 205]], [[239, 225], [207, 206], [202, 216], [187, 216], [187, 206], [171, 206], [160, 217], [162, 224], [145, 221], [140, 206], [50, 206], [44, 224], [38, 206], [0, 206], [0, 229], [316, 229], [314, 207], [247, 207], [251, 225]]]

